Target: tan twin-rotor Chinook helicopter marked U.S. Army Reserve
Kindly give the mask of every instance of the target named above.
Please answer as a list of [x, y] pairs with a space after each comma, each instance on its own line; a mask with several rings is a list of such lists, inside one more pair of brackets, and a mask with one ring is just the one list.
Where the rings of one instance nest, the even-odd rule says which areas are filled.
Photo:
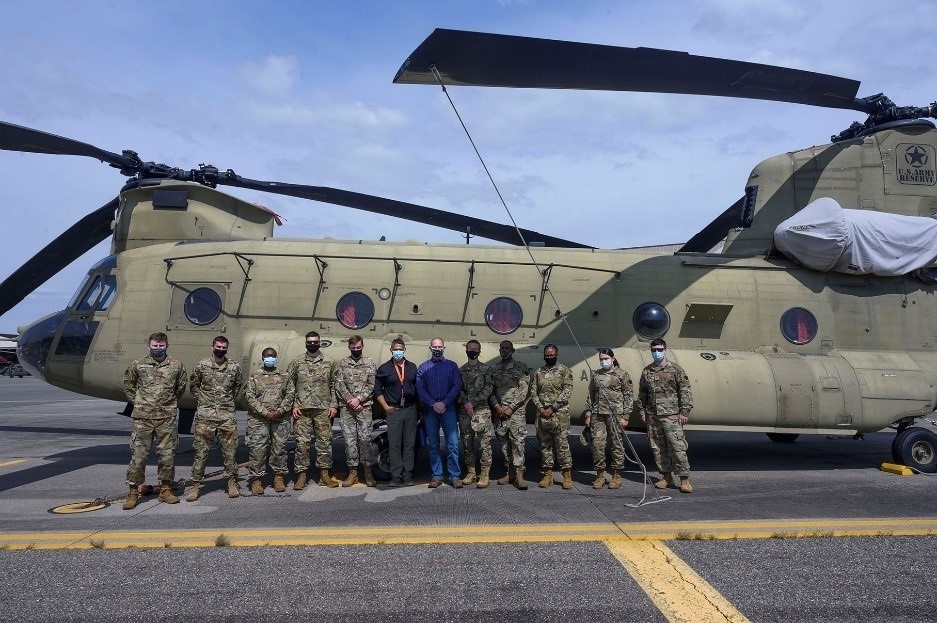
[[[779, 223], [819, 198], [877, 213], [937, 213], [937, 130], [924, 119], [937, 105], [860, 99], [856, 81], [794, 69], [452, 30], [434, 31], [395, 82], [717, 95], [856, 110], [868, 119], [830, 144], [756, 166], [738, 202], [667, 254], [596, 249], [230, 169], [174, 168], [3, 123], [0, 148], [97, 158], [130, 177], [117, 198], [0, 284], [2, 314], [112, 236], [111, 254], [91, 268], [68, 307], [22, 330], [20, 361], [54, 385], [123, 400], [124, 369], [156, 330], [169, 334], [173, 354], [190, 367], [218, 333], [245, 368], [271, 345], [288, 361], [303, 352], [309, 330], [327, 338], [324, 350], [335, 358], [359, 333], [379, 361], [398, 335], [413, 353], [436, 335], [451, 345], [478, 339], [483, 353], [511, 339], [532, 366], [552, 342], [573, 368], [578, 416], [596, 364], [579, 353], [611, 346], [637, 378], [649, 362], [646, 343], [663, 336], [693, 385], [690, 428], [791, 441], [891, 426], [897, 461], [937, 470], [937, 435], [912, 426], [937, 407], [934, 271], [821, 272], [770, 252]], [[471, 231], [508, 246], [272, 238], [276, 216], [220, 185]], [[723, 238], [721, 253], [707, 252]], [[524, 241], [536, 246], [536, 264]]]

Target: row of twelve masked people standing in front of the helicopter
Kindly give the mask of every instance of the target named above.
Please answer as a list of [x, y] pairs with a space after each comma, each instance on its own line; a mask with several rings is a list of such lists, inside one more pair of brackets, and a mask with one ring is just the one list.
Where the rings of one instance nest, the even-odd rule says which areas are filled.
[[[174, 455], [178, 445], [177, 401], [188, 385], [198, 406], [195, 412], [191, 486], [186, 500], [196, 501], [205, 477], [209, 450], [218, 439], [224, 461], [227, 493], [240, 495], [235, 459], [238, 434], [235, 400], [243, 392], [248, 405], [245, 439], [249, 448], [248, 479], [253, 495], [263, 495], [267, 464], [273, 471], [273, 489], [286, 490], [289, 479], [286, 441], [296, 441], [293, 489], [308, 484], [310, 452], [315, 450], [318, 484], [323, 487], [351, 486], [361, 480], [376, 486], [371, 469], [372, 406], [382, 408], [388, 424], [392, 479], [389, 486], [413, 484], [413, 452], [417, 434], [417, 403], [422, 406], [429, 440], [430, 487], [442, 483], [443, 461], [438, 435], [445, 433], [446, 471], [451, 486], [461, 488], [490, 484], [492, 439], [501, 444], [505, 473], [500, 485], [513, 484], [526, 490], [524, 478], [526, 410], [528, 401], [536, 408], [536, 431], [542, 456], [540, 487], [555, 484], [554, 468], [562, 474], [563, 489], [572, 489], [572, 454], [569, 447], [569, 400], [573, 389], [572, 371], [557, 361], [559, 349], [548, 344], [543, 349], [544, 365], [533, 372], [514, 358], [514, 345], [505, 340], [499, 348], [500, 360], [480, 361], [481, 344], [466, 343], [467, 363], [460, 368], [446, 360], [445, 344], [434, 338], [431, 359], [419, 369], [406, 361], [406, 345], [397, 339], [391, 345], [391, 358], [377, 366], [363, 356], [364, 340], [348, 339], [349, 356], [335, 362], [320, 352], [321, 338], [315, 331], [306, 335], [306, 352], [285, 370], [278, 366], [276, 349], [261, 353], [262, 367], [246, 380], [237, 362], [227, 358], [228, 340], [212, 341], [212, 356], [195, 365], [190, 377], [185, 366], [168, 355], [168, 338], [154, 333], [148, 339], [149, 354], [133, 361], [124, 378], [124, 391], [133, 403], [131, 461], [126, 483], [129, 492], [123, 508], [139, 502], [139, 485], [144, 482], [146, 458], [155, 440], [159, 499], [179, 502], [172, 490]], [[692, 395], [686, 373], [666, 360], [666, 343], [651, 343], [654, 361], [641, 373], [637, 397], [628, 373], [622, 370], [611, 349], [599, 350], [600, 368], [591, 375], [585, 424], [592, 433], [592, 456], [596, 470], [593, 488], [621, 487], [624, 448], [620, 430], [628, 426], [634, 412], [647, 425], [648, 439], [662, 477], [658, 488], [678, 486], [691, 492], [689, 463], [683, 426], [692, 409]], [[347, 476], [340, 479], [332, 470], [332, 422], [338, 417], [346, 442]], [[478, 438], [479, 452], [475, 451]], [[459, 467], [459, 441], [467, 473]], [[435, 444], [433, 442], [436, 442]], [[607, 480], [606, 454], [611, 479]], [[433, 450], [435, 449], [435, 452]]]

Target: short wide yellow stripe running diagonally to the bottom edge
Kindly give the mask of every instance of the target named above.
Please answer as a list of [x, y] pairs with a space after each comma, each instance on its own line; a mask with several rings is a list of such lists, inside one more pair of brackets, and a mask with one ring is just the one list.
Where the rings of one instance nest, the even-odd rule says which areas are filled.
[[671, 623], [748, 622], [663, 542], [606, 541], [605, 546]]

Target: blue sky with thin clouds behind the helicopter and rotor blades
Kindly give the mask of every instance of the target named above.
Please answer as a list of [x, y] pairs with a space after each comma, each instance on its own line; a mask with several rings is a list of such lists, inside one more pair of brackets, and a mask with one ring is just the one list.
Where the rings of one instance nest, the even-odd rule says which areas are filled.
[[[0, 119], [184, 168], [369, 193], [508, 222], [436, 87], [394, 85], [434, 28], [655, 47], [862, 81], [899, 105], [937, 99], [937, 5], [880, 1], [3, 3]], [[826, 143], [862, 115], [647, 93], [450, 88], [522, 227], [623, 247], [683, 242], [751, 169]], [[0, 152], [0, 279], [120, 174], [88, 158]], [[356, 210], [232, 191], [286, 218], [277, 235], [462, 242]], [[849, 207], [849, 206], [846, 206]], [[575, 215], [574, 217], [571, 215]], [[482, 242], [482, 241], [478, 241]], [[107, 243], [0, 317], [58, 309]]]

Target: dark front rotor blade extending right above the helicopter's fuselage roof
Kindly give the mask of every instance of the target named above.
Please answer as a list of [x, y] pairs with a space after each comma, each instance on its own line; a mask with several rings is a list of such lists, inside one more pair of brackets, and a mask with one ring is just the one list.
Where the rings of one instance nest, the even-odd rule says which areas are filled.
[[[365, 212], [394, 216], [407, 219], [408, 221], [423, 223], [424, 225], [435, 225], [443, 229], [451, 229], [452, 231], [461, 233], [470, 232], [482, 238], [497, 240], [498, 242], [507, 244], [523, 244], [520, 237], [517, 235], [517, 230], [510, 225], [502, 225], [501, 223], [494, 223], [471, 216], [445, 212], [435, 208], [427, 208], [414, 203], [375, 197], [374, 195], [363, 195], [361, 193], [337, 188], [327, 188], [325, 186], [263, 182], [243, 178], [231, 172], [220, 174], [217, 178], [217, 183], [237, 186], [239, 188], [261, 190], [290, 197], [299, 197], [301, 199], [312, 199], [313, 201], [332, 203], [348, 208], [355, 208], [356, 210], [364, 210]], [[539, 242], [548, 247], [592, 248], [589, 245], [573, 242], [571, 240], [564, 240], [563, 238], [556, 238], [529, 229], [521, 229], [521, 232], [524, 235], [524, 240], [528, 243]]]

